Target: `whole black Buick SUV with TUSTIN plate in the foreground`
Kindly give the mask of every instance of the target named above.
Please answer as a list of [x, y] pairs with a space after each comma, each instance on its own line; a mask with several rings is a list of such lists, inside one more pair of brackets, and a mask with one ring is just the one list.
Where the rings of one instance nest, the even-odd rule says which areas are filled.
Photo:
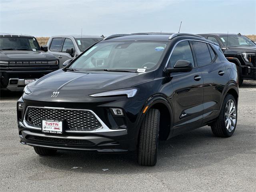
[[18, 100], [22, 144], [56, 150], [126, 152], [156, 164], [158, 139], [205, 125], [234, 133], [236, 65], [192, 34], [119, 34], [92, 45], [65, 68], [25, 87]]

